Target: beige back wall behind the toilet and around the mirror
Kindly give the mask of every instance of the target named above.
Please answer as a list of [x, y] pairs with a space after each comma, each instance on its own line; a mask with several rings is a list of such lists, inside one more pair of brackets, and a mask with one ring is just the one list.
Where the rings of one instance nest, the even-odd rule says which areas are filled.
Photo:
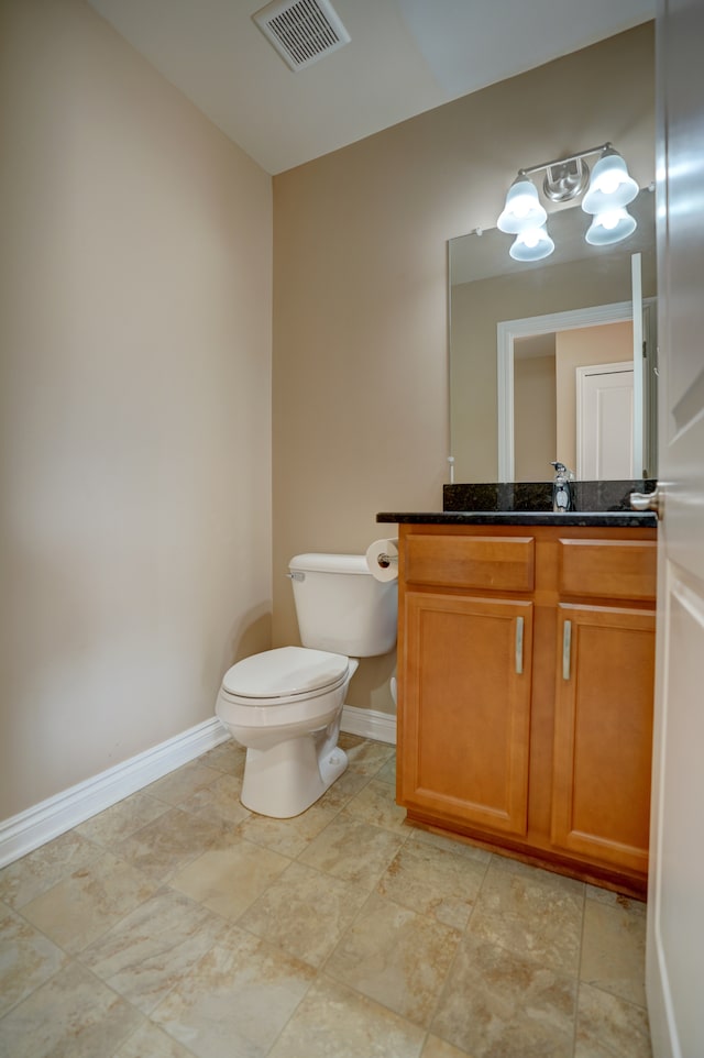
[[[519, 165], [607, 140], [653, 178], [651, 25], [274, 178], [275, 641], [296, 637], [289, 555], [441, 507], [448, 239], [494, 225]], [[392, 668], [363, 663], [350, 703], [391, 712]]]

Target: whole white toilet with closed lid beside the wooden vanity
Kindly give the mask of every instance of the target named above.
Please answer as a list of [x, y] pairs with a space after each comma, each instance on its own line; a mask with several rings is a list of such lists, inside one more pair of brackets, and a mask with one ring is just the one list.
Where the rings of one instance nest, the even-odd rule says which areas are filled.
[[246, 747], [242, 804], [278, 819], [310, 807], [348, 765], [338, 746], [359, 658], [396, 642], [395, 581], [362, 554], [298, 554], [288, 575], [302, 647], [279, 647], [226, 672], [216, 715]]

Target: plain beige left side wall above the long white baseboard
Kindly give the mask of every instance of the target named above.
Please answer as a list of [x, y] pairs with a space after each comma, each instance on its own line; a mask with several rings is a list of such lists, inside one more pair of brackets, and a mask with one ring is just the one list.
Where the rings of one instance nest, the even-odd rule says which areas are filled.
[[271, 178], [82, 0], [0, 5], [0, 818], [271, 641]]

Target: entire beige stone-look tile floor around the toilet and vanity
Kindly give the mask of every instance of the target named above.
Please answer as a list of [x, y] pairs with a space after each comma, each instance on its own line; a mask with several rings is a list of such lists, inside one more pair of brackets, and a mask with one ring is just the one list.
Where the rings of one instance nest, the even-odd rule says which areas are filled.
[[229, 741], [0, 871], [0, 1056], [649, 1058], [645, 906], [405, 826], [342, 745], [296, 819]]

